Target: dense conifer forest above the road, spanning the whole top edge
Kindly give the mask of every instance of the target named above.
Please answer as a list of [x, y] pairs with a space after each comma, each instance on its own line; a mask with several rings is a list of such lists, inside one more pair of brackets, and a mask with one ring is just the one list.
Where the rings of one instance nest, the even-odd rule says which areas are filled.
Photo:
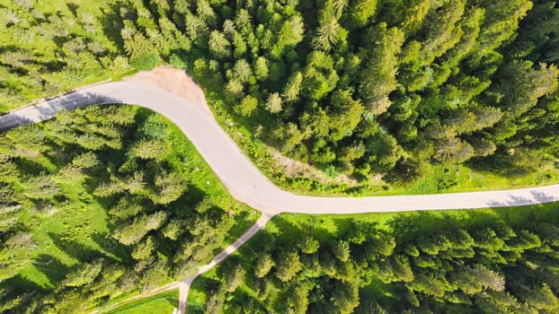
[[363, 182], [557, 159], [555, 1], [57, 3], [0, 4], [5, 109], [168, 62], [254, 141]]

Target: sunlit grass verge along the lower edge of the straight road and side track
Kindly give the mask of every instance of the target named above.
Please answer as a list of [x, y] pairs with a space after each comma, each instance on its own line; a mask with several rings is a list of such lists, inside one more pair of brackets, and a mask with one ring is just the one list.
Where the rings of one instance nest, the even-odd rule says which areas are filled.
[[[272, 248], [294, 247], [304, 236], [311, 236], [320, 243], [334, 243], [348, 232], [354, 231], [356, 224], [365, 224], [375, 231], [386, 231], [395, 237], [396, 245], [405, 243], [420, 235], [437, 233], [440, 229], [467, 227], [484, 228], [501, 222], [513, 229], [525, 228], [533, 222], [558, 222], [559, 203], [529, 205], [519, 207], [502, 207], [494, 209], [465, 209], [450, 211], [414, 211], [387, 214], [279, 214], [268, 222], [243, 247], [235, 251], [223, 263], [241, 262], [247, 273], [253, 272], [254, 256], [258, 252]], [[443, 227], [444, 226], [444, 227]], [[297, 247], [297, 245], [295, 245]], [[232, 262], [235, 264], [235, 262]], [[216, 268], [200, 275], [191, 285], [189, 293], [190, 313], [201, 313], [207, 295], [218, 281], [223, 281], [216, 273]], [[394, 286], [377, 280], [359, 289], [361, 300], [376, 300], [381, 304], [398, 302]], [[246, 293], [244, 284], [239, 287]], [[235, 292], [236, 294], [236, 292]]]

